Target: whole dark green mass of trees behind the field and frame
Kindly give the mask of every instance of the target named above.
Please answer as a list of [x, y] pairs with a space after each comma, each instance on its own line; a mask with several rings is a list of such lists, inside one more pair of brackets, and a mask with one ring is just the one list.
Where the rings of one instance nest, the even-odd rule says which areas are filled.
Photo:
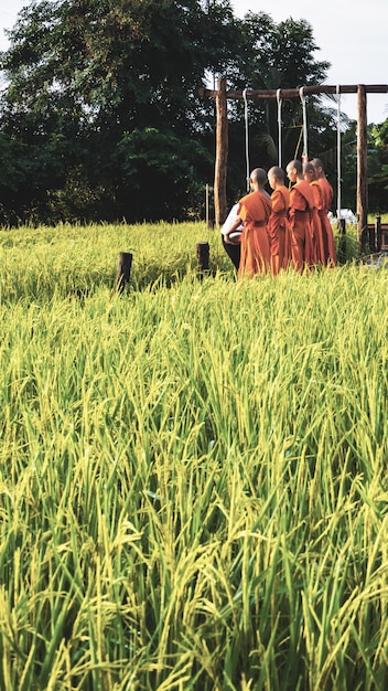
[[[234, 15], [229, 0], [33, 0], [1, 54], [0, 222], [183, 220], [213, 179], [217, 75], [233, 88], [321, 83], [304, 20]], [[276, 161], [276, 104], [250, 111], [251, 157]], [[309, 102], [312, 142], [334, 146], [330, 108]], [[284, 146], [301, 130], [283, 106]], [[229, 194], [244, 179], [241, 104], [230, 105]]]

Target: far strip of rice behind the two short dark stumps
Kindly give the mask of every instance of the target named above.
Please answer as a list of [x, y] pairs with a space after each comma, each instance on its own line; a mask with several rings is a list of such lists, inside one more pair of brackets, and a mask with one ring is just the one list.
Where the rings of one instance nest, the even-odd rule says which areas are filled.
[[114, 287], [120, 252], [133, 255], [131, 284], [136, 289], [171, 285], [197, 268], [196, 244], [209, 242], [211, 270], [231, 272], [220, 233], [204, 223], [108, 225], [67, 224], [36, 230], [0, 231], [0, 299], [47, 300], [55, 293], [90, 294]]

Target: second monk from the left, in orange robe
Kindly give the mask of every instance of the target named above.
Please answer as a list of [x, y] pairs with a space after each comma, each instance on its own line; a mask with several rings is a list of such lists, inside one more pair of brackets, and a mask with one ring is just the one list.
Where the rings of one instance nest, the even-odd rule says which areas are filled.
[[268, 234], [271, 252], [271, 272], [276, 276], [280, 269], [288, 268], [291, 261], [291, 238], [288, 221], [290, 192], [284, 184], [284, 172], [278, 166], [273, 166], [268, 171], [268, 182], [273, 190]]

